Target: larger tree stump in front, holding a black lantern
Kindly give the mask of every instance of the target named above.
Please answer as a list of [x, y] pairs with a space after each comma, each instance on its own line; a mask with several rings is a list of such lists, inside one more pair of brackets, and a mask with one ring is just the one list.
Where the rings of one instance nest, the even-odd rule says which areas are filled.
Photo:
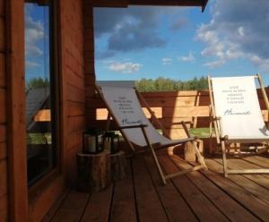
[[110, 153], [108, 150], [98, 154], [78, 153], [76, 160], [79, 191], [99, 192], [110, 184]]

